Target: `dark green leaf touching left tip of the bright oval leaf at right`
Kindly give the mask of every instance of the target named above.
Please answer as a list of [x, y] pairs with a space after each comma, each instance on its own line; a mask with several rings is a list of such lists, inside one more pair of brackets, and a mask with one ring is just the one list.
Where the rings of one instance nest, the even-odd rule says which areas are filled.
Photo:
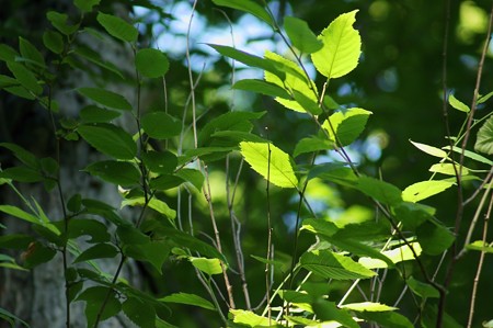
[[359, 177], [356, 188], [374, 200], [387, 205], [393, 206], [402, 202], [402, 192], [399, 188], [375, 178]]

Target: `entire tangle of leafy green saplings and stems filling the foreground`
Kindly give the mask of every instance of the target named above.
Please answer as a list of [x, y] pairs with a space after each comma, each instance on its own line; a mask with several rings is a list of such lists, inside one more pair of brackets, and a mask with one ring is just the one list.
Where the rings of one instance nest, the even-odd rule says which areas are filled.
[[[310, 121], [311, 135], [298, 140], [293, 154], [288, 154], [277, 146], [277, 140], [270, 138], [268, 131], [265, 136], [252, 132], [254, 123], [266, 115], [265, 112], [228, 111], [199, 126], [195, 98], [198, 80], [194, 79], [192, 69], [188, 71], [190, 102], [182, 118], [168, 112], [167, 106], [145, 112], [141, 104], [146, 83], [164, 78], [170, 69], [165, 54], [141, 48], [137, 42], [138, 30], [116, 15], [98, 12], [96, 21], [102, 31], [84, 30], [84, 15], [93, 12], [99, 1], [74, 1], [79, 23], [68, 23], [64, 13], [47, 14], [54, 27], [43, 37], [44, 46], [55, 56], [49, 64], [24, 38], [20, 39], [19, 52], [5, 45], [0, 48], [1, 59], [11, 72], [11, 76], [1, 76], [2, 89], [45, 106], [51, 116], [57, 143], [53, 158], [37, 158], [15, 144], [0, 145], [20, 161], [19, 166], [2, 169], [0, 182], [13, 190], [23, 203], [23, 206], [3, 204], [0, 211], [30, 223], [35, 233], [0, 237], [0, 246], [24, 249], [22, 265], [7, 255], [0, 258], [1, 264], [25, 270], [54, 261], [57, 253], [61, 255], [67, 327], [70, 326], [70, 305], [74, 302], [85, 303], [90, 327], [98, 327], [121, 312], [139, 327], [171, 327], [168, 323], [173, 321], [171, 304], [211, 310], [219, 318], [218, 325], [228, 327], [359, 327], [360, 323], [381, 327], [459, 326], [445, 312], [454, 265], [467, 250], [480, 251], [479, 279], [484, 255], [492, 252], [486, 235], [489, 210], [483, 238], [471, 239], [480, 214], [491, 207], [486, 207], [486, 202], [490, 202], [493, 173], [488, 169], [492, 161], [478, 154], [493, 152], [491, 115], [474, 121], [477, 104], [493, 94], [479, 95], [481, 70], [470, 108], [454, 95], [448, 98], [452, 108], [467, 113], [457, 136], [448, 135], [449, 145], [439, 148], [412, 142], [439, 161], [429, 169], [433, 174], [428, 181], [416, 182], [401, 191], [382, 179], [360, 172], [346, 151], [364, 132], [372, 113], [336, 104], [330, 97], [330, 82], [358, 66], [362, 41], [353, 27], [357, 11], [341, 14], [316, 36], [306, 22], [290, 16], [285, 18], [284, 32], [266, 5], [253, 1], [214, 2], [259, 18], [278, 33], [289, 49], [287, 56], [267, 52], [259, 57], [234, 47], [209, 45], [222, 56], [264, 70], [263, 80], [240, 80], [233, 89], [273, 97], [287, 111], [297, 112], [299, 120]], [[131, 73], [105, 61], [94, 50], [80, 47], [80, 34], [103, 32], [131, 53]], [[482, 61], [486, 48], [488, 43]], [[135, 104], [101, 86], [78, 86], [76, 92], [92, 104], [82, 108], [76, 120], [60, 117], [60, 105], [53, 99], [59, 83], [57, 72], [62, 68], [79, 69], [81, 58], [135, 84]], [[190, 53], [187, 58], [190, 60]], [[322, 86], [310, 79], [302, 59], [309, 59], [326, 78]], [[121, 116], [130, 117], [135, 128], [116, 124], [115, 120]], [[467, 149], [467, 140], [479, 124], [482, 127], [478, 132], [477, 152], [473, 152]], [[121, 204], [64, 192], [60, 144], [79, 143], [79, 139], [104, 158], [90, 161], [81, 169], [118, 189]], [[319, 154], [329, 150], [335, 151], [341, 160], [316, 161]], [[474, 168], [466, 167], [467, 160]], [[248, 253], [257, 261], [249, 269], [244, 267], [241, 224], [234, 211], [237, 192], [246, 192], [240, 181], [243, 161], [265, 180], [267, 238], [262, 246], [265, 256]], [[225, 231], [218, 227], [218, 208], [214, 202], [215, 195], [222, 191], [215, 183], [210, 168], [223, 170], [226, 176], [226, 186], [220, 188], [226, 189], [227, 216], [231, 223], [231, 230], [226, 234], [232, 241], [227, 246]], [[238, 169], [237, 173], [233, 168]], [[437, 179], [438, 174], [447, 178]], [[19, 191], [14, 182], [43, 183], [47, 192], [58, 193], [62, 218], [48, 217], [39, 203]], [[339, 217], [333, 217], [328, 211], [317, 211], [310, 205], [307, 193], [312, 185], [337, 185], [343, 192], [356, 193], [360, 204], [344, 208]], [[437, 208], [420, 202], [454, 186], [458, 189], [458, 210], [456, 227], [451, 230], [437, 218]], [[470, 199], [465, 199], [465, 190], [472, 190]], [[276, 257], [274, 249], [271, 212], [274, 192], [298, 197], [293, 250], [287, 261]], [[196, 228], [191, 214], [185, 223], [180, 201], [176, 208], [169, 205], [173, 193], [177, 200], [188, 196], [207, 208], [213, 231], [209, 240], [198, 236], [200, 228]], [[480, 195], [481, 202], [469, 225], [470, 233], [460, 247], [458, 242], [462, 240], [458, 235], [463, 208]], [[117, 207], [130, 207], [133, 217], [128, 218]], [[301, 238], [305, 242], [309, 240], [308, 247], [301, 245]], [[447, 252], [451, 253], [448, 269], [444, 269], [442, 261], [437, 268], [427, 264], [428, 259], [445, 258]], [[114, 259], [116, 271], [104, 271], [100, 264], [102, 259]], [[141, 291], [121, 276], [129, 261], [149, 264], [158, 279], [165, 278], [165, 264], [190, 262], [188, 271], [194, 272], [205, 292], [180, 291], [156, 296]], [[264, 275], [265, 302], [257, 308], [250, 299], [246, 279], [250, 271]], [[233, 274], [239, 276], [234, 279], [238, 285], [231, 279]], [[398, 301], [391, 305], [385, 304], [390, 299], [380, 297], [389, 281], [399, 287]], [[241, 303], [233, 292], [238, 286], [243, 294]], [[355, 290], [362, 292], [362, 297], [354, 295]], [[333, 296], [329, 291], [339, 295]], [[411, 314], [399, 312], [398, 305], [404, 295], [411, 295], [414, 303]], [[469, 326], [473, 309], [472, 302]], [[12, 325], [18, 320], [4, 309], [0, 316]]]

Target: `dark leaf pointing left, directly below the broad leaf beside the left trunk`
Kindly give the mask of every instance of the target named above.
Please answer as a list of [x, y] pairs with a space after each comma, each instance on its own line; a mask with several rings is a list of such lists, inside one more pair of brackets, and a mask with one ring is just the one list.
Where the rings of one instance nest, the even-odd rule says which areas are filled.
[[126, 161], [96, 161], [87, 166], [83, 171], [122, 186], [131, 186], [140, 182], [140, 171], [134, 165]]

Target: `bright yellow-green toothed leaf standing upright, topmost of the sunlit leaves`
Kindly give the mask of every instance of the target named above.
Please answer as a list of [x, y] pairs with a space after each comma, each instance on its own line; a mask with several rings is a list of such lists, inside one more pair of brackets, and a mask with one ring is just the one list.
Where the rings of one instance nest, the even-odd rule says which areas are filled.
[[311, 54], [311, 60], [317, 70], [328, 79], [345, 76], [358, 65], [362, 37], [353, 29], [356, 12], [354, 10], [341, 14], [319, 35], [323, 47]]

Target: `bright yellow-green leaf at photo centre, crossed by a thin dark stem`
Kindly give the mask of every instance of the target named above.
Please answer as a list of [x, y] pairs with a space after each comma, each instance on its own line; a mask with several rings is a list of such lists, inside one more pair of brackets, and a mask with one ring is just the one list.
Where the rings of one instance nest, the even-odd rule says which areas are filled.
[[280, 188], [296, 188], [298, 179], [289, 156], [272, 144], [240, 143], [240, 151], [246, 162], [264, 179]]

